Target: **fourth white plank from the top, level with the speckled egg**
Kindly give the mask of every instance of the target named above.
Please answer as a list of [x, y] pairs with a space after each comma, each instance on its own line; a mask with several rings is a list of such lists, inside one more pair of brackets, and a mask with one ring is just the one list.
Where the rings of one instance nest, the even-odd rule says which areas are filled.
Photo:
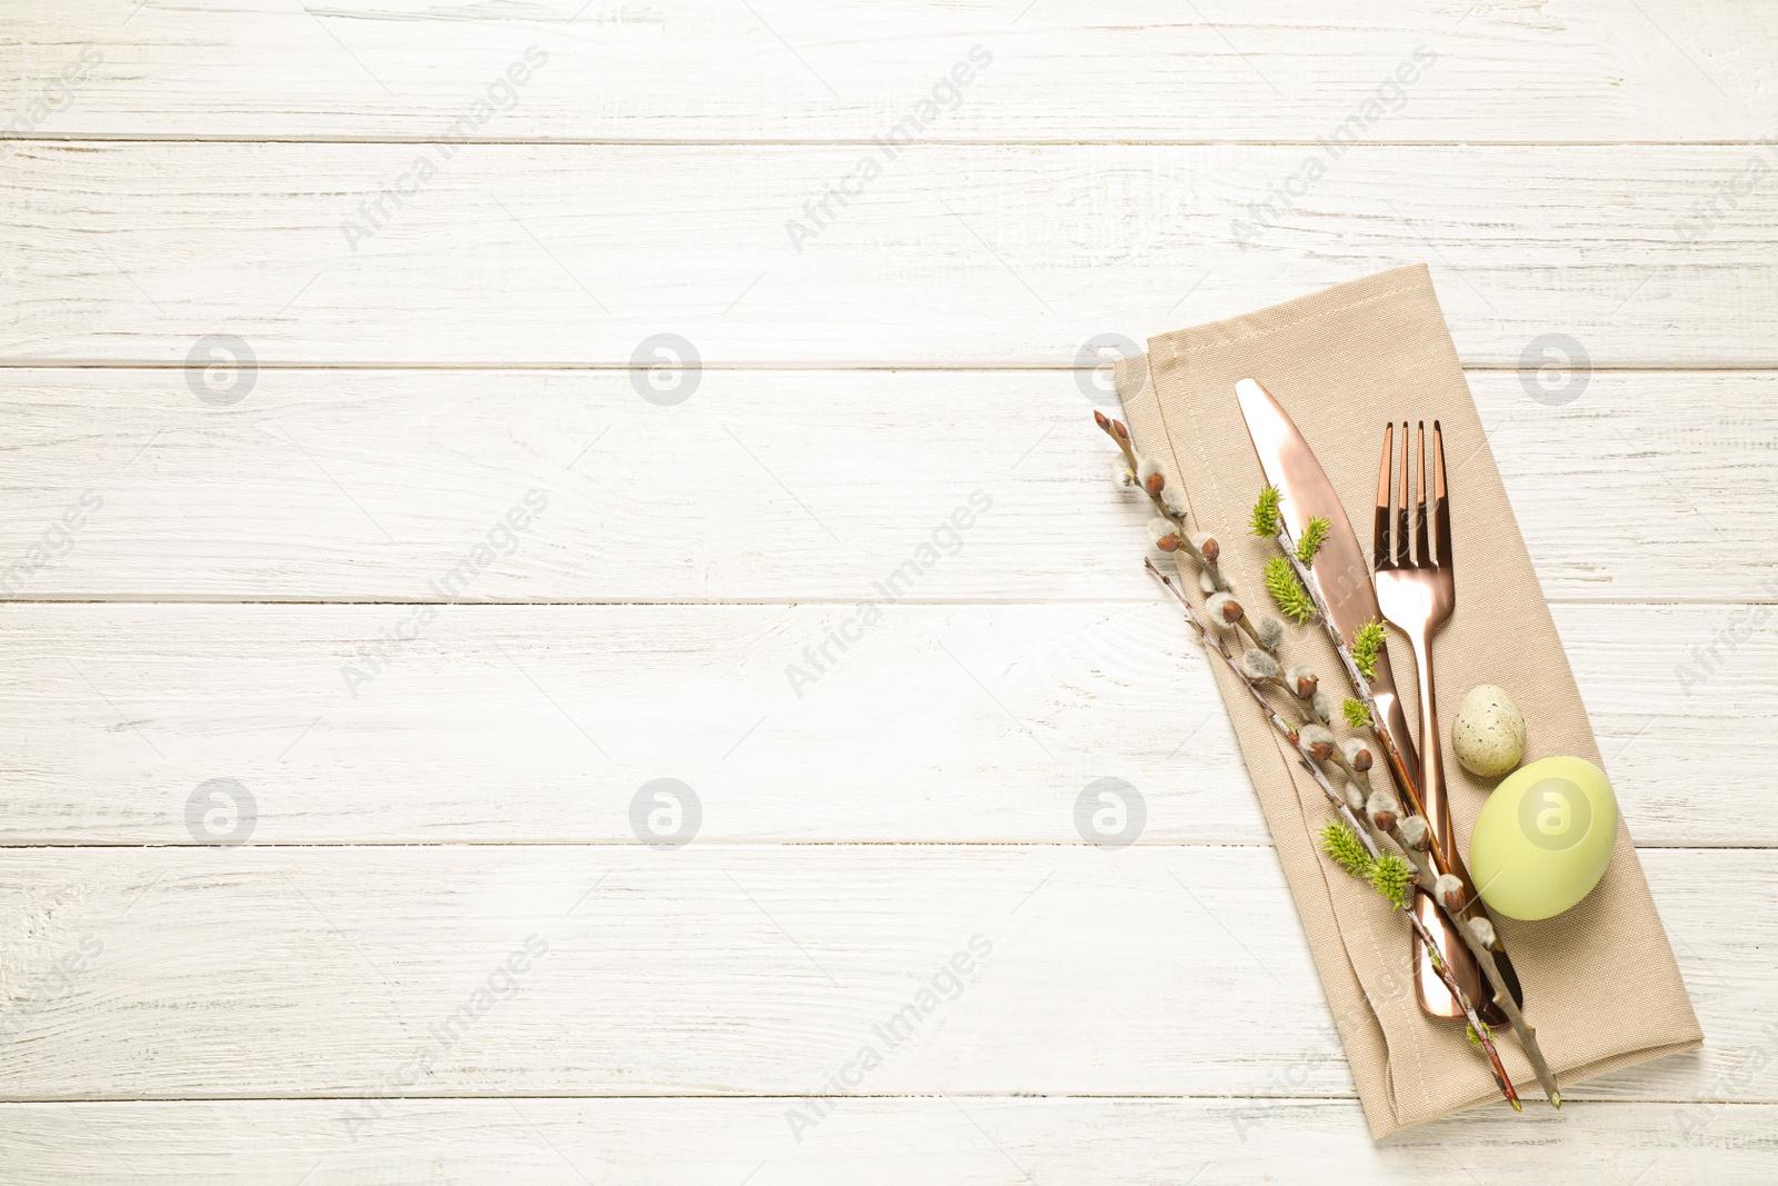
[[[1766, 610], [1559, 610], [1639, 843], [1778, 845]], [[628, 845], [631, 800], [661, 777], [699, 797], [699, 843], [1076, 845], [1076, 800], [1102, 777], [1143, 800], [1141, 843], [1268, 843], [1170, 606], [905, 605], [862, 621], [852, 606], [443, 606], [423, 626], [380, 605], [11, 606], [0, 843], [210, 843], [187, 802], [233, 779], [260, 845]], [[373, 672], [359, 647], [400, 622], [420, 637]], [[804, 649], [846, 622], [861, 638], [809, 667]], [[793, 686], [791, 663], [809, 679]], [[1447, 717], [1462, 692], [1446, 688]], [[1718, 809], [1698, 809], [1700, 786]]]

